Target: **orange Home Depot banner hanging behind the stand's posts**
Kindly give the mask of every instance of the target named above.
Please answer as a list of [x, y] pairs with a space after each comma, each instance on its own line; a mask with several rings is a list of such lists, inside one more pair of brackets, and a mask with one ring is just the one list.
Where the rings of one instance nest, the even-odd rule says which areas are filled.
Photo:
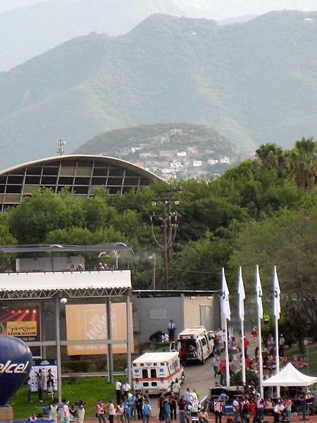
[[[132, 305], [130, 307], [131, 351], [133, 352]], [[107, 339], [106, 305], [66, 305], [68, 341]], [[127, 313], [125, 302], [111, 304], [111, 331], [113, 339], [127, 338]], [[68, 355], [106, 354], [106, 344], [68, 345]], [[127, 344], [113, 344], [113, 354], [127, 353]]]

